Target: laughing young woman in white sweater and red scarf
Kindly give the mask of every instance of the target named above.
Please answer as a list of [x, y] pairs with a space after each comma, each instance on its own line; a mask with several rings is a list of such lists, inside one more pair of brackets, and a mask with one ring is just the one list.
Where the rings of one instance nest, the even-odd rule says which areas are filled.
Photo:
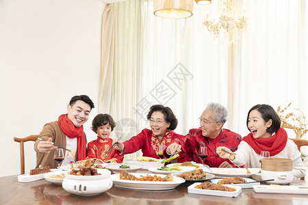
[[[221, 158], [230, 159], [234, 165], [261, 167], [261, 151], [270, 152], [270, 157], [292, 159], [294, 178], [305, 176], [305, 167], [295, 143], [287, 139], [280, 127], [281, 120], [270, 105], [255, 105], [248, 112], [246, 125], [249, 133], [243, 138], [235, 154], [229, 148], [219, 147], [216, 152]], [[222, 149], [227, 152], [222, 151]]]

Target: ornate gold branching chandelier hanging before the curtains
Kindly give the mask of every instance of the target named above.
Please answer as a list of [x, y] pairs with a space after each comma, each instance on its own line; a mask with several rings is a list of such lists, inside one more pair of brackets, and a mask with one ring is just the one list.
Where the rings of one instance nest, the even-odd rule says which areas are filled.
[[222, 5], [220, 17], [218, 21], [207, 19], [203, 21], [209, 32], [214, 36], [214, 40], [218, 40], [221, 44], [227, 39], [229, 44], [235, 43], [240, 33], [246, 31], [248, 26], [248, 18], [243, 16], [235, 20], [235, 3], [234, 0], [220, 0]]

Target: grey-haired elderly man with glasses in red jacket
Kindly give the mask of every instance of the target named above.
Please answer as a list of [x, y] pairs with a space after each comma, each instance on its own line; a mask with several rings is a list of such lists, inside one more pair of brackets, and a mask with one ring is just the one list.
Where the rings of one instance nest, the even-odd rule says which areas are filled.
[[[234, 152], [242, 141], [239, 134], [222, 128], [228, 117], [229, 112], [225, 107], [210, 102], [199, 118], [201, 127], [191, 129], [188, 135], [178, 139], [179, 143], [170, 144], [166, 152], [173, 153], [175, 150], [183, 149], [180, 153], [186, 155], [183, 159], [205, 163], [210, 167], [233, 167], [229, 159], [222, 159], [216, 154], [216, 148], [219, 146], [225, 146]], [[207, 147], [208, 156], [204, 161], [198, 156], [201, 146]]]

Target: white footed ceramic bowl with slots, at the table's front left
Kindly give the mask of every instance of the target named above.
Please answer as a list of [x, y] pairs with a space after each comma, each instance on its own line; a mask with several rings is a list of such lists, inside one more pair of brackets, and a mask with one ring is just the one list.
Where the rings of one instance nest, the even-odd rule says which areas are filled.
[[98, 169], [101, 175], [77, 176], [65, 173], [62, 187], [75, 195], [99, 195], [112, 187], [111, 172], [108, 169]]

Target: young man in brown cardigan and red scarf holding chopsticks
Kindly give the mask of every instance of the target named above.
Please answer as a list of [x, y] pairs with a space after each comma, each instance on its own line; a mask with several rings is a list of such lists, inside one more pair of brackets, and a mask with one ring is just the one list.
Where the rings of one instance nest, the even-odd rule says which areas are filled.
[[75, 161], [86, 159], [87, 142], [82, 125], [87, 122], [92, 108], [94, 103], [88, 96], [73, 96], [67, 106], [67, 114], [60, 115], [58, 121], [44, 125], [40, 138], [46, 141], [36, 140], [34, 143], [34, 150], [37, 152], [36, 167], [39, 165], [57, 167], [53, 159], [57, 147], [53, 144], [73, 151], [69, 155], [68, 151], [64, 150], [66, 163], [72, 160], [72, 157], [75, 157]]

